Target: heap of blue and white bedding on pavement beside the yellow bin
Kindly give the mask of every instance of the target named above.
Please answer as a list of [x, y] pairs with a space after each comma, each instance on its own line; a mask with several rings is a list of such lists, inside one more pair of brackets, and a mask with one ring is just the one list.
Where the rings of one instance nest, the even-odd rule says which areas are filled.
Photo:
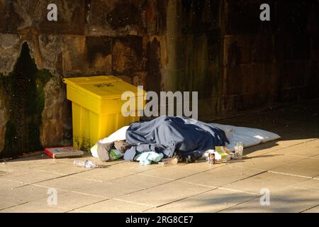
[[[110, 159], [108, 153], [114, 142], [122, 141], [126, 146], [119, 148], [124, 159], [150, 164], [151, 155], [161, 154], [164, 158], [177, 156], [179, 162], [194, 162], [206, 150], [225, 146], [234, 150], [236, 142], [243, 142], [247, 148], [259, 143], [280, 138], [276, 133], [257, 128], [225, 126], [217, 123], [203, 123], [186, 117], [160, 116], [152, 121], [140, 121], [125, 126], [108, 138], [99, 140], [91, 148], [91, 154], [102, 161]], [[119, 146], [119, 145], [118, 145]], [[142, 164], [144, 165], [144, 164]], [[145, 164], [146, 165], [146, 164]]]

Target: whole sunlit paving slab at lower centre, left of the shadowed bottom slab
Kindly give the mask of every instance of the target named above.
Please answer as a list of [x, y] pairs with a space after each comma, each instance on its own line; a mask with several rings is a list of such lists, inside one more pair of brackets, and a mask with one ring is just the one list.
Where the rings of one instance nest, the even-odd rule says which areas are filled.
[[197, 184], [189, 184], [186, 182], [173, 181], [157, 187], [152, 187], [151, 189], [146, 189], [125, 196], [119, 196], [116, 199], [123, 199], [125, 201], [132, 201], [138, 204], [156, 207], [179, 199], [184, 199], [189, 196], [208, 192], [211, 189], [213, 188], [203, 187]]

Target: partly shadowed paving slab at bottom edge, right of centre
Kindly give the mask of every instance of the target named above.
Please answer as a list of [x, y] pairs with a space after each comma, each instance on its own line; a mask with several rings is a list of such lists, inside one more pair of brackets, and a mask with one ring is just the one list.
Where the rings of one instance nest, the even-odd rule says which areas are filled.
[[155, 213], [215, 213], [228, 207], [235, 206], [244, 201], [254, 199], [256, 196], [224, 189], [213, 189], [197, 196], [174, 201], [171, 204], [150, 209], [147, 212]]

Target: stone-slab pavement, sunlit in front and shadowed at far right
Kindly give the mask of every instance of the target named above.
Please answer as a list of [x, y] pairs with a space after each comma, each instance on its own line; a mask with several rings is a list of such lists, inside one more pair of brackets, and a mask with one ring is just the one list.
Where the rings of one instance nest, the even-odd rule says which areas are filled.
[[262, 128], [280, 140], [220, 165], [74, 167], [35, 153], [0, 162], [0, 212], [319, 212], [319, 103], [216, 121]]

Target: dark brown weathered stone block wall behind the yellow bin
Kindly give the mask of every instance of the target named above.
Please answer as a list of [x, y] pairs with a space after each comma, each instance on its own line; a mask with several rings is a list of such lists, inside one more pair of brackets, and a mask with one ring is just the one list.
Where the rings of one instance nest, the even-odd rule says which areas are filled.
[[[47, 21], [53, 2], [58, 21]], [[14, 72], [23, 43], [38, 68], [30, 82], [37, 87], [41, 122], [33, 130], [42, 146], [71, 143], [63, 77], [113, 74], [155, 92], [198, 91], [201, 119], [318, 98], [318, 1], [269, 0], [270, 22], [259, 20], [262, 3], [0, 0], [0, 156], [10, 156], [15, 137], [26, 140], [9, 126], [30, 131], [32, 117], [16, 125], [18, 99], [6, 86], [21, 77]], [[34, 149], [26, 145], [13, 155]]]

